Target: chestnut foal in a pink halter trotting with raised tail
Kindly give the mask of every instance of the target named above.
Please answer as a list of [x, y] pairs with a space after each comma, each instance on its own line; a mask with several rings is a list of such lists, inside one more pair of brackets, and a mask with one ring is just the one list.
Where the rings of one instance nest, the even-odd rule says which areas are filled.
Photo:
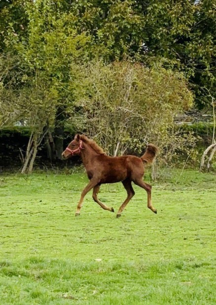
[[127, 191], [127, 198], [120, 206], [116, 215], [117, 218], [121, 216], [121, 212], [135, 195], [132, 182], [146, 190], [147, 207], [156, 214], [157, 210], [151, 204], [151, 185], [143, 181], [143, 176], [145, 165], [153, 162], [157, 152], [158, 148], [156, 146], [148, 144], [146, 152], [141, 157], [134, 155], [112, 157], [106, 155], [96, 142], [88, 139], [85, 135], [75, 135], [62, 156], [68, 159], [73, 155], [80, 155], [90, 180], [81, 193], [75, 216], [80, 214], [83, 199], [92, 188], [94, 201], [104, 210], [114, 212], [113, 208], [109, 208], [98, 199], [98, 192], [101, 184], [116, 182], [121, 182]]

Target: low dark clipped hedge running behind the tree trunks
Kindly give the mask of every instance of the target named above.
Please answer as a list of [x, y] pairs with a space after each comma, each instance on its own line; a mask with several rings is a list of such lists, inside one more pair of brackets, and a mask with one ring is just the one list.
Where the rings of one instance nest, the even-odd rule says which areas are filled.
[[[179, 128], [179, 126], [177, 126]], [[211, 144], [213, 136], [213, 124], [212, 123], [194, 123], [183, 124], [180, 126], [182, 132], [193, 131], [196, 136], [199, 136], [197, 142], [197, 150], [199, 154]], [[0, 169], [10, 169], [22, 167], [22, 155], [25, 155], [25, 150], [28, 145], [29, 136], [31, 131], [28, 127], [14, 126], [7, 129], [0, 130]], [[68, 145], [74, 136], [74, 130], [65, 130], [64, 133], [64, 147]], [[50, 165], [58, 165], [64, 167], [66, 164], [74, 164], [78, 162], [77, 158], [69, 162], [54, 161], [50, 162], [44, 143], [41, 145], [37, 157], [36, 166], [49, 167]]]

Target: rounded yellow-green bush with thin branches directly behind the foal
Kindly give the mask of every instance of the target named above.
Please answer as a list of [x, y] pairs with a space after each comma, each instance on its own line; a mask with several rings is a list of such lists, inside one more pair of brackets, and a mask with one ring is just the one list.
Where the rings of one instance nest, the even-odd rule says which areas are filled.
[[175, 114], [191, 107], [193, 100], [181, 74], [129, 61], [108, 65], [93, 61], [80, 68], [77, 80], [74, 96], [83, 113], [76, 120], [72, 117], [72, 123], [109, 154], [118, 142], [122, 154], [128, 149], [141, 153], [150, 142], [161, 149], [180, 149], [180, 142], [183, 147], [189, 140], [173, 133]]

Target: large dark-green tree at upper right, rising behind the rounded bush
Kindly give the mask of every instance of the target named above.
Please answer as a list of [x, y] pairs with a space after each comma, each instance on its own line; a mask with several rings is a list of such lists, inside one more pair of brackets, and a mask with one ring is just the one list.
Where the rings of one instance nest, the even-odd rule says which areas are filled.
[[107, 61], [130, 56], [150, 66], [182, 71], [195, 93], [195, 102], [208, 106], [201, 87], [215, 95], [216, 3], [214, 0], [65, 0], [63, 10], [74, 16], [95, 51]]

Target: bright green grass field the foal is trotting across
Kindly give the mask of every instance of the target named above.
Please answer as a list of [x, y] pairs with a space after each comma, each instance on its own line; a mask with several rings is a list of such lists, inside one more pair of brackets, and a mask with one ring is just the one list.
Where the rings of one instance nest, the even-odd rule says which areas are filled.
[[118, 219], [121, 183], [99, 193], [115, 213], [89, 192], [74, 216], [86, 183], [83, 171], [0, 176], [0, 305], [216, 304], [216, 175], [165, 171], [157, 215], [134, 186]]

